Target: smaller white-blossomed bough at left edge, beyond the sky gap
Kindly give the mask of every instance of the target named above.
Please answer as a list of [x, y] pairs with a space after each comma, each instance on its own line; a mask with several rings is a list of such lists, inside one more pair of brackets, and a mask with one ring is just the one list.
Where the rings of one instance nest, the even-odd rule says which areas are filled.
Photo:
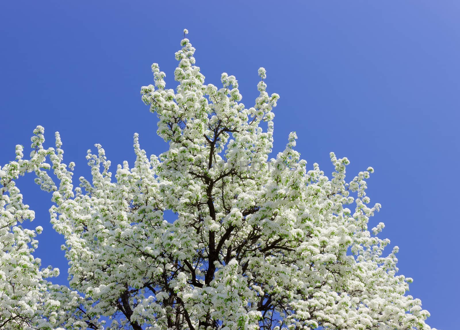
[[[46, 191], [56, 191], [47, 171], [52, 161], [55, 174], [61, 181], [60, 196], [73, 196], [69, 190], [70, 174], [62, 164], [63, 151], [57, 134], [57, 149], [43, 148], [44, 129], [38, 126], [32, 138], [32, 152], [29, 160], [23, 159], [23, 146], [16, 146], [16, 161], [0, 168], [0, 329], [87, 329], [101, 326], [98, 317], [83, 313], [83, 308], [91, 302], [68, 287], [53, 285], [46, 279], [59, 275], [51, 266], [40, 269], [41, 261], [33, 257], [37, 248], [37, 234], [41, 226], [34, 230], [24, 229], [23, 221], [34, 220], [35, 213], [23, 203], [23, 196], [16, 186], [19, 175], [35, 172], [35, 182]], [[95, 328], [93, 328], [95, 329]]]

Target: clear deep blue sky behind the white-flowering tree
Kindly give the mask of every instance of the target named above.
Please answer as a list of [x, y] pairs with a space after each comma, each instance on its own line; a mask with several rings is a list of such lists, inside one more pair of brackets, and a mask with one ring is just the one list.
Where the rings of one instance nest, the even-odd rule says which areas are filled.
[[[199, 5], [198, 5], [199, 4]], [[196, 47], [207, 83], [235, 75], [242, 102], [257, 96], [267, 69], [275, 108], [274, 155], [297, 131], [297, 150], [330, 174], [329, 152], [351, 160], [349, 179], [368, 166], [372, 228], [398, 245], [409, 294], [428, 324], [457, 329], [459, 289], [460, 2], [443, 1], [2, 1], [0, 5], [0, 164], [45, 127], [59, 131], [64, 161], [89, 176], [86, 150], [103, 145], [112, 169], [132, 163], [132, 136], [148, 154], [165, 151], [155, 115], [140, 98], [160, 64], [175, 88], [182, 30]], [[26, 149], [27, 150], [27, 149]], [[24, 152], [28, 155], [29, 152]], [[36, 256], [61, 269], [63, 238], [49, 224], [51, 195], [18, 186], [43, 226]], [[391, 247], [386, 252], [391, 252]]]

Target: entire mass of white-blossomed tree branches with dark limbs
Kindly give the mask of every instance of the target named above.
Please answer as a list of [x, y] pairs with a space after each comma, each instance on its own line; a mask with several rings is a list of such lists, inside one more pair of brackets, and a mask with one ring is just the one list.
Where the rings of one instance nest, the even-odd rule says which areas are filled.
[[[380, 208], [366, 196], [373, 169], [347, 182], [349, 161], [331, 153], [332, 179], [317, 164], [306, 171], [295, 133], [269, 160], [279, 96], [266, 92], [265, 69], [246, 108], [234, 76], [205, 85], [195, 48], [181, 45], [177, 90], [165, 88], [157, 64], [155, 86], [141, 89], [169, 142], [159, 157], [147, 157], [135, 134], [136, 161], [114, 178], [96, 145], [86, 156], [92, 180], [74, 187], [59, 134], [45, 149], [39, 126], [30, 158], [17, 146], [1, 168], [0, 328], [430, 329], [420, 300], [405, 295], [412, 279], [396, 275], [397, 248], [384, 255], [383, 223], [368, 230]], [[14, 181], [27, 172], [52, 191], [69, 287], [48, 282], [58, 270], [40, 270], [32, 256], [41, 227], [18, 224], [34, 218]]]

